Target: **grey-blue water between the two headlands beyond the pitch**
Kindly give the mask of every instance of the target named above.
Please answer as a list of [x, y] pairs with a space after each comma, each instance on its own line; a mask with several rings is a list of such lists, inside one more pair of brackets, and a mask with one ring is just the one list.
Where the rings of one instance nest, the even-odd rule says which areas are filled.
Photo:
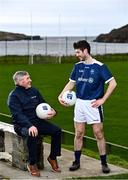
[[0, 56], [5, 55], [73, 55], [73, 43], [87, 40], [91, 54], [128, 53], [128, 43], [98, 43], [95, 37], [44, 37], [42, 40], [0, 41]]

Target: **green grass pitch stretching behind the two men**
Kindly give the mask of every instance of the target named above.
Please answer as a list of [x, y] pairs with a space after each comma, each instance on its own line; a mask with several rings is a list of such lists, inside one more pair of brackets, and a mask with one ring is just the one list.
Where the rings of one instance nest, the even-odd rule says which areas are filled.
[[[113, 75], [116, 77], [118, 86], [104, 105], [105, 121], [104, 130], [106, 140], [128, 146], [128, 62], [107, 62]], [[14, 88], [12, 75], [17, 70], [27, 70], [33, 80], [33, 86], [37, 87], [47, 102], [57, 111], [58, 115], [53, 122], [65, 130], [74, 131], [73, 107], [62, 107], [57, 97], [64, 85], [68, 82], [73, 64], [41, 64], [41, 65], [0, 65], [0, 109], [2, 113], [9, 114], [6, 101], [9, 92]], [[87, 135], [93, 136], [90, 126]]]

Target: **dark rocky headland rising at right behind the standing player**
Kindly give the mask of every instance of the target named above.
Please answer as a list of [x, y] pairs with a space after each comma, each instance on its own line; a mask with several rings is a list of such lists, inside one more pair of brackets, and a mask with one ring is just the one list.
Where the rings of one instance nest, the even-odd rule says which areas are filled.
[[100, 34], [94, 42], [128, 43], [128, 24], [113, 29], [108, 34]]

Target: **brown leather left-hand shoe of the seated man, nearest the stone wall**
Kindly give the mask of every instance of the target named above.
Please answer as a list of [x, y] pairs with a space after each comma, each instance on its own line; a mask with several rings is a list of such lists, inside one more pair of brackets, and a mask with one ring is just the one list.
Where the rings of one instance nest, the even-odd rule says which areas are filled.
[[34, 165], [27, 165], [27, 169], [28, 169], [28, 171], [30, 172], [30, 174], [32, 175], [32, 176], [37, 176], [37, 177], [39, 177], [40, 176], [40, 171], [39, 171], [39, 169], [37, 168], [37, 165], [36, 164], [34, 164]]

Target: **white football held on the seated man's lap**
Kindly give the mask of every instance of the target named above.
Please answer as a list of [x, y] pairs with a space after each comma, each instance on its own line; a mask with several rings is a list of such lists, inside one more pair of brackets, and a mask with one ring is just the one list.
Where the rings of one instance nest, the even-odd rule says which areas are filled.
[[51, 106], [47, 103], [41, 103], [36, 107], [36, 115], [40, 119], [46, 119], [48, 117], [48, 113], [51, 112]]

